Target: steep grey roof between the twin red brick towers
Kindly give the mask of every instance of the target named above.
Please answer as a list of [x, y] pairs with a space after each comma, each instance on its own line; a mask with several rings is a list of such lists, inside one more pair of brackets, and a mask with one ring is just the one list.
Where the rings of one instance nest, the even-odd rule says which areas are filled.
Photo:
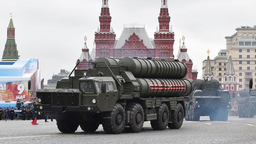
[[135, 35], [137, 35], [140, 40], [143, 40], [143, 44], [148, 48], [148, 49], [153, 49], [153, 45], [150, 42], [150, 39], [148, 37], [148, 33], [144, 28], [136, 28], [136, 27], [125, 27], [124, 30], [122, 31], [122, 34], [115, 46], [115, 48], [122, 48], [122, 46], [124, 46], [124, 43], [126, 40], [129, 39], [129, 37], [135, 33]]

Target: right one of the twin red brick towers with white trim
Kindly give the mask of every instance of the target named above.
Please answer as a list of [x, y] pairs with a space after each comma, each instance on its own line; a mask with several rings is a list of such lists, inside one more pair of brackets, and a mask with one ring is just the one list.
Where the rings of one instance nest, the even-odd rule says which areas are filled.
[[169, 11], [167, 6], [167, 0], [161, 0], [160, 15], [158, 17], [159, 31], [158, 28], [154, 33], [155, 43], [155, 59], [166, 59], [173, 60], [173, 43], [174, 43], [174, 32], [170, 27], [171, 17], [169, 17]]

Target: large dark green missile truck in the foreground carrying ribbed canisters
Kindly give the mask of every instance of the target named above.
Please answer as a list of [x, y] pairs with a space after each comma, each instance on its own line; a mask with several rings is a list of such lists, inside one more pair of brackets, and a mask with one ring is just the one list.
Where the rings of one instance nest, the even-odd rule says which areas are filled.
[[[79, 64], [79, 63], [78, 63]], [[77, 65], [78, 65], [77, 64]], [[179, 129], [185, 115], [182, 96], [192, 91], [184, 63], [139, 58], [98, 58], [89, 70], [58, 81], [56, 89], [37, 90], [37, 111], [57, 120], [59, 131], [139, 132], [150, 121], [154, 130]]]

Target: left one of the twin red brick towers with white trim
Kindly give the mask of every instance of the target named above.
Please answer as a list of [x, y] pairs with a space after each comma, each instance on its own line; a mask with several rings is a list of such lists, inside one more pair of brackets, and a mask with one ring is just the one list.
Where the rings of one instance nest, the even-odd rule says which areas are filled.
[[115, 32], [110, 26], [111, 16], [109, 13], [108, 0], [102, 0], [100, 13], [100, 29], [95, 32], [96, 55], [98, 57], [113, 57]]

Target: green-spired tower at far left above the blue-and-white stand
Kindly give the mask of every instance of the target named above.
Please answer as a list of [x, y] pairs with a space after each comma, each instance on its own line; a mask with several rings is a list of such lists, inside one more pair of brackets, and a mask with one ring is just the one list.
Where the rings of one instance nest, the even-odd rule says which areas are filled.
[[19, 59], [17, 44], [15, 42], [15, 28], [13, 26], [13, 18], [11, 19], [7, 28], [7, 40], [4, 47], [2, 61], [17, 61]]

